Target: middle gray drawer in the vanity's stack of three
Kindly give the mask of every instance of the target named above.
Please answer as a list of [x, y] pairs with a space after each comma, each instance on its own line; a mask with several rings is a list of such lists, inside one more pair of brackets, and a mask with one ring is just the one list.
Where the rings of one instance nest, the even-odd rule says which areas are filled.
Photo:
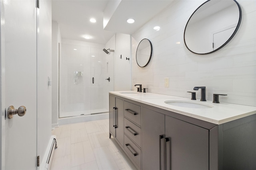
[[140, 127], [124, 118], [124, 133], [130, 137], [139, 147], [141, 147], [141, 130]]

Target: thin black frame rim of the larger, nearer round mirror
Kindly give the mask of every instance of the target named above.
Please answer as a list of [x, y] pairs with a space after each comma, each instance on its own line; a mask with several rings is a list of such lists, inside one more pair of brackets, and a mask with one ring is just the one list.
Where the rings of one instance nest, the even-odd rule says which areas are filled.
[[[202, 5], [200, 5], [200, 6], [193, 12], [193, 14], [194, 14], [201, 6], [203, 6], [205, 3], [207, 3], [208, 1], [210, 1], [210, 0], [207, 0], [207, 1], [204, 2]], [[241, 20], [242, 20], [242, 10], [241, 10], [241, 7], [240, 7], [240, 5], [238, 4], [238, 2], [236, 2], [236, 0], [233, 0], [233, 1], [237, 4], [238, 9], [239, 9], [239, 20], [238, 20], [236, 29], [235, 29], [234, 33], [232, 33], [232, 35], [230, 36], [230, 38], [229, 38], [223, 45], [221, 45], [219, 48], [217, 48], [217, 49], [215, 49], [215, 50], [213, 50], [213, 51], [210, 51], [209, 53], [196, 53], [196, 52], [194, 52], [194, 51], [192, 51], [192, 50], [190, 50], [190, 49], [188, 48], [188, 46], [187, 46], [187, 44], [186, 44], [186, 41], [185, 41], [185, 32], [186, 32], [186, 28], [187, 28], [188, 22], [190, 21], [190, 18], [193, 16], [193, 14], [190, 16], [190, 18], [188, 19], [188, 22], [187, 22], [187, 24], [186, 24], [186, 27], [185, 27], [185, 29], [184, 29], [184, 36], [183, 36], [184, 43], [185, 43], [185, 45], [186, 45], [186, 47], [187, 47], [187, 49], [188, 49], [189, 51], [191, 51], [192, 53], [195, 53], [195, 54], [210, 54], [210, 53], [214, 53], [215, 51], [218, 51], [219, 49], [221, 49], [222, 47], [224, 47], [224, 46], [234, 37], [234, 35], [236, 34], [236, 32], [237, 32], [237, 30], [238, 30], [238, 28], [239, 28], [239, 26], [240, 26]]]

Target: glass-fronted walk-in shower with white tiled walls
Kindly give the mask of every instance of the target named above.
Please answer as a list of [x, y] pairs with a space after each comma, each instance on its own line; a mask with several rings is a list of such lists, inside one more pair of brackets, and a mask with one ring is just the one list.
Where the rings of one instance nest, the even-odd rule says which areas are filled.
[[[110, 81], [106, 80], [110, 77]], [[102, 48], [61, 44], [59, 117], [108, 112], [108, 92], [114, 91], [114, 53]]]

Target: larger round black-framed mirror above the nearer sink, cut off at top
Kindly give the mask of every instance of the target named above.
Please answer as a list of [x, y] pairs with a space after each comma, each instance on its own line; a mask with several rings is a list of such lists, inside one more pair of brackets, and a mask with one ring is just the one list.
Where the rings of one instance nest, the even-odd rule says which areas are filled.
[[234, 37], [241, 19], [236, 0], [208, 0], [190, 16], [184, 31], [185, 45], [196, 54], [213, 53]]

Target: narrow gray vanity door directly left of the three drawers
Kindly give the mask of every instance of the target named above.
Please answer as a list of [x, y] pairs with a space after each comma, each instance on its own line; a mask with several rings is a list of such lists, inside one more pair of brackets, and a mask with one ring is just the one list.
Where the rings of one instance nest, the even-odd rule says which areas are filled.
[[124, 147], [124, 101], [116, 98], [117, 121], [116, 121], [116, 139]]

